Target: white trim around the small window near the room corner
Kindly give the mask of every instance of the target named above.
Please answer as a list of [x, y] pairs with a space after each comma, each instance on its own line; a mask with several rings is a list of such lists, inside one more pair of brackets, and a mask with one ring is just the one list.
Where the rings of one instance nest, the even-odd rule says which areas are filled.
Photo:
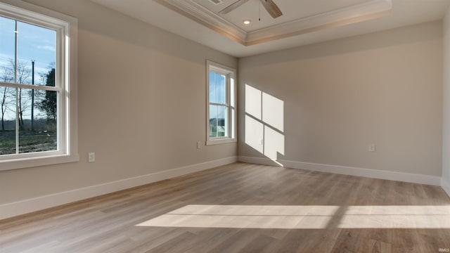
[[[226, 74], [226, 103], [229, 105], [229, 109], [232, 108], [234, 110], [228, 110], [229, 122], [228, 122], [228, 131], [229, 136], [227, 137], [216, 137], [210, 138], [210, 71], [219, 72], [221, 74]], [[214, 63], [211, 60], [206, 60], [206, 145], [216, 145], [223, 143], [235, 143], [237, 142], [236, 138], [236, 105], [238, 103], [236, 96], [236, 69], [232, 67], [228, 67], [226, 65], [221, 65], [219, 63]], [[234, 80], [234, 89], [231, 89], [230, 80]], [[231, 105], [231, 91], [233, 91], [234, 96], [234, 106]]]

